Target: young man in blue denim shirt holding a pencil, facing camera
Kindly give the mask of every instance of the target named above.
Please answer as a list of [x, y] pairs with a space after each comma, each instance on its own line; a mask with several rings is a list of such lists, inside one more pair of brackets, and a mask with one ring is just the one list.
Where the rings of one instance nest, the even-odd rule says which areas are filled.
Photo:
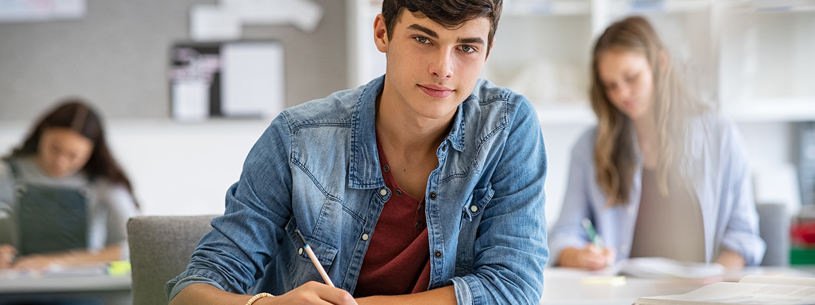
[[[546, 153], [478, 80], [500, 0], [385, 0], [385, 76], [289, 108], [249, 152], [171, 304], [537, 304]], [[303, 233], [337, 288], [321, 282]], [[249, 301], [246, 295], [275, 297]]]

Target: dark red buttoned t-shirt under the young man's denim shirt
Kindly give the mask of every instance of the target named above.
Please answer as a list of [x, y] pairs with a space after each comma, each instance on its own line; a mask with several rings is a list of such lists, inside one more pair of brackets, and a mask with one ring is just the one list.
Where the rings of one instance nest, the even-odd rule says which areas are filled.
[[403, 193], [390, 172], [377, 137], [377, 150], [390, 198], [382, 208], [359, 270], [355, 297], [414, 294], [430, 285], [430, 241], [425, 199]]

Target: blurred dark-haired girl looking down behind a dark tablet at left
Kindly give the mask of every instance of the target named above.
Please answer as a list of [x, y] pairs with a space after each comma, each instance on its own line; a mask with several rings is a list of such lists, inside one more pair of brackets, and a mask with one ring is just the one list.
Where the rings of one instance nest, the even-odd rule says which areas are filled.
[[47, 113], [0, 163], [7, 237], [0, 268], [44, 269], [119, 260], [126, 221], [138, 213], [130, 181], [81, 101]]

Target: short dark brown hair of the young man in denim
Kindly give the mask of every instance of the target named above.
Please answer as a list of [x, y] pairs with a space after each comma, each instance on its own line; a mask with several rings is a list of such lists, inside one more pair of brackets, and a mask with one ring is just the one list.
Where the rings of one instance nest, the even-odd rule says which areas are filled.
[[445, 28], [457, 28], [469, 20], [486, 16], [491, 25], [490, 33], [487, 34], [487, 54], [490, 54], [502, 6], [502, 0], [384, 0], [382, 17], [385, 18], [388, 37], [393, 37], [394, 27], [399, 22], [399, 13], [403, 9], [413, 13], [420, 12]]

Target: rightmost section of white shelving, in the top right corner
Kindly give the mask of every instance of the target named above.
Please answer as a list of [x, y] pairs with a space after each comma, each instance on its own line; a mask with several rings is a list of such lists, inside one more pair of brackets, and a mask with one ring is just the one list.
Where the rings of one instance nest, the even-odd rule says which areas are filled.
[[815, 120], [815, 1], [738, 2], [722, 24], [722, 110], [743, 122]]

